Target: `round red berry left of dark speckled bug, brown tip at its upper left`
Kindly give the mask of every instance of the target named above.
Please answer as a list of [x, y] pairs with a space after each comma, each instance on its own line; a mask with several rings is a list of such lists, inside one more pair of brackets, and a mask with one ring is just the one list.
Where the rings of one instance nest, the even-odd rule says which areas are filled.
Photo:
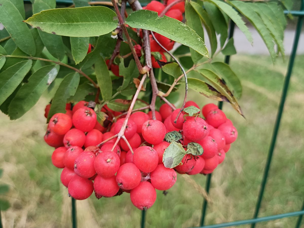
[[141, 133], [148, 143], [158, 144], [164, 140], [166, 127], [161, 121], [151, 119], [143, 123]]

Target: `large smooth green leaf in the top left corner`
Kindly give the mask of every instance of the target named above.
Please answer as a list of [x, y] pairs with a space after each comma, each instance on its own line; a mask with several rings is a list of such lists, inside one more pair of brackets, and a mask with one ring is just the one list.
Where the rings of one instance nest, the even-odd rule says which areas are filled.
[[23, 18], [9, 0], [1, 0], [0, 22], [5, 26], [17, 46], [26, 54], [35, 55], [36, 45], [28, 26], [22, 22]]

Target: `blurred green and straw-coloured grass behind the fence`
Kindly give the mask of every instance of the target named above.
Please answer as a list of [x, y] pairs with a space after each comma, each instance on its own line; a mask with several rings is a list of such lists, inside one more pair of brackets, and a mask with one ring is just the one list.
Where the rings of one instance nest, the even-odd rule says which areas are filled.
[[[259, 216], [299, 210], [304, 195], [304, 56], [297, 56], [268, 183]], [[236, 55], [231, 67], [240, 76], [243, 119], [229, 104], [223, 110], [239, 136], [214, 172], [206, 224], [251, 218], [264, 171], [287, 62], [274, 66], [267, 56]], [[181, 97], [182, 99], [182, 97]], [[210, 100], [189, 92], [200, 106]], [[1, 181], [10, 185], [12, 207], [2, 212], [4, 227], [71, 227], [71, 200], [60, 183], [60, 170], [51, 164], [52, 148], [44, 143], [46, 98], [21, 119], [0, 114]], [[206, 177], [191, 176], [205, 186]], [[178, 181], [147, 211], [146, 227], [198, 226], [203, 197], [179, 174]], [[114, 198], [77, 201], [78, 227], [139, 227], [141, 211], [128, 193]], [[296, 218], [257, 224], [256, 227], [294, 227]], [[249, 227], [239, 226], [239, 227]]]

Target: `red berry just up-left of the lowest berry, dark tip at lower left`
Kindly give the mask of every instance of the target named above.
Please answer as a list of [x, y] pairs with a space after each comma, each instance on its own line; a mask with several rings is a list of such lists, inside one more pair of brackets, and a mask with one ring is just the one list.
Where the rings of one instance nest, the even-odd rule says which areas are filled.
[[140, 181], [140, 170], [133, 163], [125, 163], [117, 171], [116, 183], [122, 189], [133, 189], [139, 185]]

